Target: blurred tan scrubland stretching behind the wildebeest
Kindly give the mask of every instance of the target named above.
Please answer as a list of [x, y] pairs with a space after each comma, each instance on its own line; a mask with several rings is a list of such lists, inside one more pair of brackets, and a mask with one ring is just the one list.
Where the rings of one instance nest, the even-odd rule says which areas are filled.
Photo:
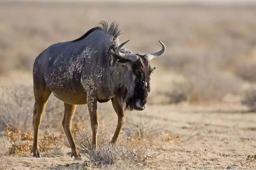
[[35, 57], [101, 20], [119, 22], [124, 32], [119, 39], [130, 39], [126, 47], [134, 53], [159, 50], [158, 39], [165, 43], [166, 52], [151, 63], [156, 70], [149, 105], [210, 102], [254, 110], [255, 17], [255, 1], [244, 0], [1, 1], [2, 113], [12, 108], [20, 114], [25, 101], [24, 112], [31, 112]]

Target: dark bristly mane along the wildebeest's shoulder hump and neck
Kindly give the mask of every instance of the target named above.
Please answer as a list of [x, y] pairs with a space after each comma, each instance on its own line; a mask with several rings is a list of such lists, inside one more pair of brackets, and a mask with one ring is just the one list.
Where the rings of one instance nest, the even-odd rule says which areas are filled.
[[84, 35], [79, 37], [78, 39], [74, 39], [72, 42], [80, 41], [80, 40], [84, 39], [85, 37], [87, 37], [93, 31], [96, 31], [98, 29], [104, 31], [108, 36], [112, 37], [113, 40], [116, 39], [118, 37], [118, 35], [122, 34], [121, 30], [119, 28], [119, 24], [116, 23], [115, 21], [113, 21], [111, 23], [110, 27], [108, 27], [108, 22], [106, 22], [106, 21], [100, 21], [98, 23], [98, 25], [99, 26], [96, 26], [96, 27], [90, 29]]

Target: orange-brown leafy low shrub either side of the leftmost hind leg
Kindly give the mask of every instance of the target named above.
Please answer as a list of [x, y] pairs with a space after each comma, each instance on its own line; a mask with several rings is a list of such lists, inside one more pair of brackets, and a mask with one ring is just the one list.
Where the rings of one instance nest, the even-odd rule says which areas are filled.
[[[18, 128], [12, 129], [8, 124], [4, 129], [7, 139], [12, 144], [6, 154], [15, 155], [30, 152], [32, 148], [32, 132], [21, 133]], [[39, 140], [38, 145], [41, 152], [51, 151], [61, 147], [60, 139], [63, 135], [57, 137], [54, 133], [44, 132], [42, 140]]]

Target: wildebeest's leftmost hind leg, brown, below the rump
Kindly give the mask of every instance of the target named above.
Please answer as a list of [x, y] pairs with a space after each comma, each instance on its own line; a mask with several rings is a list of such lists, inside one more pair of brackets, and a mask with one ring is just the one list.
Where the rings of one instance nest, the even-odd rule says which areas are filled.
[[46, 106], [47, 100], [51, 94], [50, 89], [38, 90], [34, 88], [35, 106], [33, 110], [33, 125], [34, 125], [34, 141], [31, 153], [33, 152], [34, 157], [41, 157], [38, 149], [38, 131], [41, 124], [42, 114]]

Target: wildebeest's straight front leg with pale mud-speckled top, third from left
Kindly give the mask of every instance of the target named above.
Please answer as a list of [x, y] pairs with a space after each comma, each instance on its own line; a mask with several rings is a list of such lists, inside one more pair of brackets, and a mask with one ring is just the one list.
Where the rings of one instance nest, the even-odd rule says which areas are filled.
[[87, 105], [90, 113], [91, 128], [92, 128], [92, 149], [97, 149], [97, 136], [98, 136], [98, 111], [97, 111], [97, 97], [95, 94], [87, 95]]

